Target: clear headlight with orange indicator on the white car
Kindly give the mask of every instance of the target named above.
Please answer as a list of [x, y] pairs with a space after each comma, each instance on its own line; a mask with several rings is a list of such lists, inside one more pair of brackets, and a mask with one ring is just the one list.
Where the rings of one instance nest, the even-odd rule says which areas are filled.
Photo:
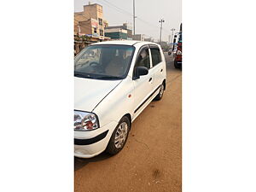
[[99, 128], [99, 121], [95, 113], [74, 111], [74, 130], [90, 131]]

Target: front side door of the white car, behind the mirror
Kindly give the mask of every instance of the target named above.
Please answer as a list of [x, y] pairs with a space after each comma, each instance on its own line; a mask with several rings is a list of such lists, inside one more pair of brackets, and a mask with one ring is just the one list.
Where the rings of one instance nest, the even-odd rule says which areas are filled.
[[152, 65], [148, 46], [143, 46], [143, 48], [139, 50], [133, 72], [135, 72], [136, 67], [147, 67], [148, 74], [140, 76], [139, 79], [133, 79], [134, 118], [136, 118], [137, 115], [142, 112], [143, 108], [147, 106], [148, 97], [150, 97], [150, 94], [153, 91], [154, 73], [151, 70]]

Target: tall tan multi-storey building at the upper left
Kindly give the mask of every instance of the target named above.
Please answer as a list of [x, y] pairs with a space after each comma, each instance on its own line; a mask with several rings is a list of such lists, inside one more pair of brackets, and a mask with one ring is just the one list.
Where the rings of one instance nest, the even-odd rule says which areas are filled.
[[84, 5], [84, 11], [74, 13], [74, 33], [90, 37], [91, 42], [106, 40], [104, 31], [108, 21], [103, 22], [102, 5], [89, 3]]

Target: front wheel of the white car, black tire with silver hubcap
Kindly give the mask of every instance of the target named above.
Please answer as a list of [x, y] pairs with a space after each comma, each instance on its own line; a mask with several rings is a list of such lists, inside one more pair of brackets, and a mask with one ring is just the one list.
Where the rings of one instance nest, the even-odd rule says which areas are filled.
[[106, 149], [108, 154], [118, 154], [119, 151], [124, 148], [130, 129], [130, 119], [124, 116], [122, 119], [120, 119], [119, 124], [116, 126], [112, 136], [110, 137], [108, 147]]

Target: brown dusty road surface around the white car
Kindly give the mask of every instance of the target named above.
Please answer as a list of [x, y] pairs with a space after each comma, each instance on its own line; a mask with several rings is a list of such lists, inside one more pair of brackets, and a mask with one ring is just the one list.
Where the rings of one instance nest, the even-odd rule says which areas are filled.
[[182, 191], [182, 73], [170, 55], [166, 64], [164, 97], [133, 122], [125, 148], [112, 157], [75, 158], [75, 192]]

